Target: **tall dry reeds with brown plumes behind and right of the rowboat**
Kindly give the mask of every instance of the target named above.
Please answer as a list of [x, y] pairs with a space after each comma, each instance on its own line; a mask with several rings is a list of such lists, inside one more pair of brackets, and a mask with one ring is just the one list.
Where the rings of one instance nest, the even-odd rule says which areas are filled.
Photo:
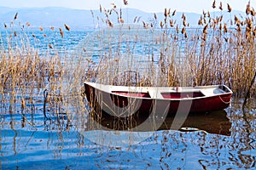
[[[130, 66], [130, 69], [142, 72], [147, 82], [150, 82], [148, 84], [152, 86], [226, 84], [232, 88], [234, 96], [238, 98], [245, 97], [248, 91], [251, 96], [255, 96], [255, 11], [248, 3], [246, 17], [234, 15], [234, 19], [230, 18], [226, 22], [224, 13], [231, 16], [232, 8], [227, 4], [227, 10], [224, 10], [222, 3], [217, 6], [214, 1], [212, 8], [215, 8], [216, 13], [217, 10], [221, 11], [221, 15], [214, 16], [215, 14], [213, 14], [212, 16], [210, 12], [203, 12], [198, 20], [198, 26], [195, 27], [189, 26], [184, 14], [181, 20], [174, 20], [176, 10], [172, 11], [171, 8], [165, 9], [164, 20], [158, 20], [159, 17], [156, 14], [149, 21], [139, 20], [139, 17], [136, 17], [134, 22], [142, 23], [143, 29], [148, 30], [148, 38], [142, 42], [143, 46], [146, 44], [149, 46], [149, 53], [143, 53], [143, 57], [148, 57], [148, 62], [145, 62], [140, 68], [131, 68]], [[120, 34], [126, 33], [124, 30], [127, 30], [127, 26], [124, 25], [125, 21], [122, 19], [122, 9], [118, 9], [113, 4], [113, 8], [102, 9], [101, 7], [100, 11], [104, 18], [100, 20], [100, 17], [97, 17], [98, 25], [107, 24], [109, 30], [114, 27], [113, 29], [120, 30]], [[117, 20], [115, 22], [110, 20], [110, 15], [116, 16]], [[113, 23], [116, 23], [116, 26]], [[134, 28], [132, 29], [134, 30]], [[116, 49], [108, 53], [110, 54], [109, 62], [115, 56], [113, 59], [115, 62], [109, 63], [110, 65], [120, 65], [124, 62], [129, 69], [129, 65], [137, 65], [135, 58], [143, 58], [133, 55], [134, 48], [130, 48], [132, 46], [129, 43], [131, 39], [135, 40], [135, 43], [140, 41], [137, 38], [138, 35], [143, 39], [142, 35], [145, 31], [139, 31], [141, 27], [136, 29], [137, 32], [132, 35], [133, 37], [119, 36], [116, 39], [119, 43], [127, 42], [127, 49], [122, 55], [128, 54], [125, 59], [127, 57], [133, 59], [133, 63], [128, 64], [129, 62], [122, 60], [124, 56], [120, 56], [119, 49]], [[150, 33], [150, 31], [154, 31], [154, 33]], [[101, 34], [108, 35], [111, 34], [111, 31], [101, 32]], [[150, 38], [152, 35], [154, 37]], [[109, 41], [113, 40], [114, 38], [109, 39]], [[108, 46], [110, 45], [108, 44]], [[150, 48], [155, 47], [159, 48], [158, 52], [151, 51], [150, 53]], [[147, 69], [140, 71], [141, 67]], [[109, 70], [108, 65], [97, 73], [102, 73], [102, 77], [106, 77], [104, 74], [106, 69]], [[111, 80], [113, 77], [108, 79]], [[106, 83], [111, 82], [107, 81]]]

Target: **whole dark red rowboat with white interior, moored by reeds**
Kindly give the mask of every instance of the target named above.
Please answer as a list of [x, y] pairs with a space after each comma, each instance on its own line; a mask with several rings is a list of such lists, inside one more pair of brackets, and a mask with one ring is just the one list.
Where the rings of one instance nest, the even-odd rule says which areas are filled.
[[198, 87], [129, 87], [84, 82], [86, 98], [94, 111], [127, 117], [134, 113], [169, 116], [177, 112], [201, 113], [224, 110], [232, 91], [225, 85]]

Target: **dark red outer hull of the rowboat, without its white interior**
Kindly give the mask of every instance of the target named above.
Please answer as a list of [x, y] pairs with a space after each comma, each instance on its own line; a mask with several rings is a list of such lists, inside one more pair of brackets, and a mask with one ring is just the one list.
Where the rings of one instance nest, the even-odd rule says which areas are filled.
[[[219, 90], [223, 90], [223, 93], [212, 96], [204, 96], [197, 91], [192, 91], [193, 93], [168, 92], [161, 93], [163, 99], [152, 98], [147, 92], [127, 93], [122, 90], [108, 92], [86, 82], [84, 82], [84, 88], [91, 108], [117, 117], [127, 117], [134, 113], [139, 113], [140, 116], [150, 114], [175, 116], [177, 113], [185, 112], [201, 113], [224, 110], [229, 107], [232, 97], [232, 92], [225, 86], [218, 87]], [[118, 87], [113, 88], [118, 89]]]

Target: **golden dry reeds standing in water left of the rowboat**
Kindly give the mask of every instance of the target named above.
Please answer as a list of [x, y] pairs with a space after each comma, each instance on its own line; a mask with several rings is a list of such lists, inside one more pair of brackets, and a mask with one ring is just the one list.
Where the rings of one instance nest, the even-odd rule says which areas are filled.
[[[15, 20], [17, 16], [15, 14]], [[37, 44], [40, 43], [36, 38], [38, 35], [32, 32], [27, 34], [24, 26], [21, 29], [15, 26], [15, 20], [9, 28], [5, 24], [7, 36], [1, 37], [0, 111], [3, 114], [21, 113], [25, 119], [26, 114], [42, 111], [46, 121], [56, 121], [57, 124], [68, 124], [73, 119], [79, 119], [79, 115], [70, 114], [73, 111], [83, 113], [84, 117], [86, 111], [82, 82], [89, 62], [85, 59], [81, 61], [78, 57], [71, 58], [67, 51], [57, 51], [46, 33], [42, 35], [44, 41], [49, 42], [47, 48], [33, 48], [42, 47]], [[64, 27], [70, 31], [67, 24]], [[39, 27], [39, 30], [44, 31], [44, 28]], [[63, 38], [64, 31], [61, 28], [55, 30], [50, 27], [50, 30]], [[31, 40], [36, 44], [32, 46]]]

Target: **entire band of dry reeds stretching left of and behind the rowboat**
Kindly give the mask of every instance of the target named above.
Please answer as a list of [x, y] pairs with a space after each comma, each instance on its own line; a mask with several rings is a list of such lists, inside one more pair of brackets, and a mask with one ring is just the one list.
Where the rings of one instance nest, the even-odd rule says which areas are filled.
[[[212, 8], [217, 8], [215, 1]], [[222, 3], [218, 8], [225, 13]], [[80, 122], [89, 111], [84, 99], [85, 80], [121, 84], [134, 76], [135, 83], [126, 85], [226, 84], [238, 99], [255, 98], [256, 14], [249, 3], [246, 18], [235, 16], [226, 23], [223, 15], [203, 12], [196, 28], [189, 27], [184, 14], [181, 20], [174, 20], [176, 10], [167, 8], [164, 20], [154, 14], [149, 21], [135, 18], [133, 25], [125, 24], [122, 9], [115, 5], [111, 9], [100, 7], [100, 12], [102, 18], [92, 12], [99, 30], [81, 42], [75, 54], [61, 56], [51, 43], [48, 53], [40, 55], [40, 49], [31, 47], [26, 31], [18, 33], [5, 25], [10, 33], [0, 50], [2, 112], [31, 111], [28, 105], [40, 101], [45, 118], [57, 115], [58, 121]], [[230, 5], [226, 13], [232, 13]], [[50, 29], [59, 31], [60, 37], [64, 36], [63, 29], [70, 31], [67, 24], [63, 29]], [[128, 34], [130, 37], [124, 36]], [[125, 79], [124, 71], [137, 73]]]

